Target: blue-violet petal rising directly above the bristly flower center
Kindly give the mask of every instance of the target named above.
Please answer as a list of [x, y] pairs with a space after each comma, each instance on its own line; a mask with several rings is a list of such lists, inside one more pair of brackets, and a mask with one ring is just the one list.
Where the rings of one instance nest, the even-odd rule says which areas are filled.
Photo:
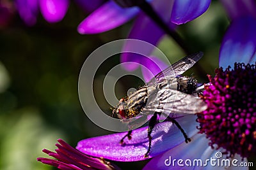
[[256, 20], [243, 17], [234, 20], [228, 28], [220, 49], [221, 67], [233, 66], [234, 62], [256, 61]]

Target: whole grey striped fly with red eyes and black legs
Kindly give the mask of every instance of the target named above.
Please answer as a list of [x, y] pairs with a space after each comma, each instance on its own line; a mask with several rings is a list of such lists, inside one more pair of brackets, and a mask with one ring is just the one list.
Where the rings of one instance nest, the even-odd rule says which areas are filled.
[[[151, 133], [159, 122], [161, 114], [164, 115], [165, 121], [171, 121], [180, 129], [186, 143], [191, 141], [175, 118], [204, 111], [206, 104], [199, 97], [196, 97], [196, 94], [200, 92], [197, 88], [196, 79], [180, 75], [198, 62], [202, 56], [203, 53], [198, 52], [175, 62], [172, 66], [158, 73], [136, 92], [120, 99], [116, 108], [113, 109], [112, 115], [122, 120], [134, 118], [139, 114], [151, 114], [148, 121], [147, 136], [149, 145], [144, 157], [148, 157], [150, 153]], [[126, 137], [131, 139], [131, 133], [132, 131], [128, 131], [124, 138], [120, 140], [120, 143], [124, 143]]]

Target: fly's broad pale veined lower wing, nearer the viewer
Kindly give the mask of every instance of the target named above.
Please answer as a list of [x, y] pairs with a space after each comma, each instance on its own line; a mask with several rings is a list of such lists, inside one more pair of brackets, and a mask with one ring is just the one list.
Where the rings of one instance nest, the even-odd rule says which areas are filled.
[[159, 90], [153, 98], [148, 101], [143, 111], [165, 113], [164, 115], [170, 113], [188, 115], [199, 113], [207, 108], [207, 104], [199, 97], [173, 89]]

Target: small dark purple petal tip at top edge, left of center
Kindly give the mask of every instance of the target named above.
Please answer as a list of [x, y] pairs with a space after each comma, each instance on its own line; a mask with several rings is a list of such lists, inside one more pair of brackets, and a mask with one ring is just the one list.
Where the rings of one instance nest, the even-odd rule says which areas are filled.
[[75, 0], [79, 7], [88, 13], [92, 13], [94, 10], [99, 8], [105, 0]]

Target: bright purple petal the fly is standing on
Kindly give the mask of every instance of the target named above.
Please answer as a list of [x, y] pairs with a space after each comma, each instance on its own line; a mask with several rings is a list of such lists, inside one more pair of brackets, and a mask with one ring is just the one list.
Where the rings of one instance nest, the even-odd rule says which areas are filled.
[[[195, 115], [176, 118], [189, 137], [198, 132]], [[149, 157], [166, 152], [184, 142], [184, 136], [171, 122], [157, 124], [152, 132], [152, 150]], [[143, 156], [148, 149], [147, 127], [132, 131], [132, 139], [125, 138], [125, 145], [120, 145], [120, 139], [127, 132], [84, 139], [77, 144], [77, 150], [95, 157], [104, 157], [117, 161], [136, 161], [145, 159]]]

